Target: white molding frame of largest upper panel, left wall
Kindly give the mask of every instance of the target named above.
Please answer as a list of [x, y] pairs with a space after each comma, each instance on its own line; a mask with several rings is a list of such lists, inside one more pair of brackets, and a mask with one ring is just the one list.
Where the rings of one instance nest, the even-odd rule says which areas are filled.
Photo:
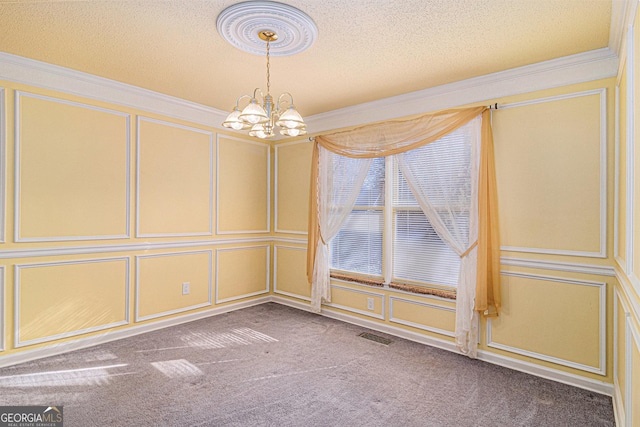
[[[2, 53], [0, 53], [1, 58]], [[124, 117], [126, 119], [126, 189], [125, 189], [125, 232], [124, 234], [116, 235], [103, 235], [103, 236], [55, 236], [55, 237], [21, 237], [20, 236], [20, 99], [21, 98], [36, 98], [49, 102], [57, 102], [59, 104], [71, 105], [74, 107], [85, 108], [88, 110], [100, 111], [102, 113], [113, 114], [116, 116]], [[96, 107], [88, 104], [81, 104], [79, 102], [67, 101], [65, 99], [52, 98], [44, 95], [36, 95], [28, 92], [16, 91], [15, 92], [15, 150], [14, 150], [14, 240], [17, 243], [23, 242], [70, 242], [78, 240], [111, 240], [111, 239], [128, 239], [131, 237], [129, 218], [131, 213], [131, 197], [130, 197], [130, 167], [131, 167], [131, 116], [127, 113], [120, 111], [108, 110], [106, 108]]]

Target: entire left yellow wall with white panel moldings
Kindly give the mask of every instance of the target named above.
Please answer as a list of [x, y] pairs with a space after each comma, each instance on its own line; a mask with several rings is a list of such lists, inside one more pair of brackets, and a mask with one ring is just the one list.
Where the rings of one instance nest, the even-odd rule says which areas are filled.
[[264, 301], [268, 144], [8, 81], [0, 94], [0, 365]]

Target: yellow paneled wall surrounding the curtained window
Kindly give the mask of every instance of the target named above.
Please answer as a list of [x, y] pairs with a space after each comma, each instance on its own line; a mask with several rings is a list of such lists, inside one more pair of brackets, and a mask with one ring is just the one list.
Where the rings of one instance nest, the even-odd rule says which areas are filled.
[[[613, 382], [613, 184], [615, 79], [498, 99], [492, 113], [502, 238], [502, 315], [480, 324], [480, 357], [551, 377]], [[306, 141], [276, 145], [275, 294], [306, 307], [308, 188], [292, 171], [309, 164]], [[279, 195], [287, 192], [287, 198]], [[279, 212], [279, 211], [278, 211]], [[286, 243], [285, 243], [286, 242]], [[295, 248], [295, 249], [293, 249]], [[373, 309], [368, 300], [373, 300]], [[455, 302], [332, 281], [334, 316], [454, 349]], [[563, 377], [563, 375], [566, 375]]]

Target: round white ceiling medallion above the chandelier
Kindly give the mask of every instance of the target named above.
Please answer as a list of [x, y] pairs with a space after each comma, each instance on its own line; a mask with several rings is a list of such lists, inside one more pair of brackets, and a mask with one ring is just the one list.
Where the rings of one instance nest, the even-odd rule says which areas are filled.
[[218, 33], [231, 45], [254, 55], [264, 54], [261, 31], [278, 35], [271, 40], [271, 56], [290, 56], [307, 50], [318, 37], [318, 28], [304, 12], [272, 1], [247, 1], [224, 9], [216, 22]]

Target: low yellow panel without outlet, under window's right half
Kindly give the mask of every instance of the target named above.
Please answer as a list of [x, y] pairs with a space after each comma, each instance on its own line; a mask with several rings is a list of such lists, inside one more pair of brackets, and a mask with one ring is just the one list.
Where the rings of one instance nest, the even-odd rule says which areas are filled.
[[456, 329], [454, 305], [439, 305], [389, 296], [389, 321], [453, 337]]

